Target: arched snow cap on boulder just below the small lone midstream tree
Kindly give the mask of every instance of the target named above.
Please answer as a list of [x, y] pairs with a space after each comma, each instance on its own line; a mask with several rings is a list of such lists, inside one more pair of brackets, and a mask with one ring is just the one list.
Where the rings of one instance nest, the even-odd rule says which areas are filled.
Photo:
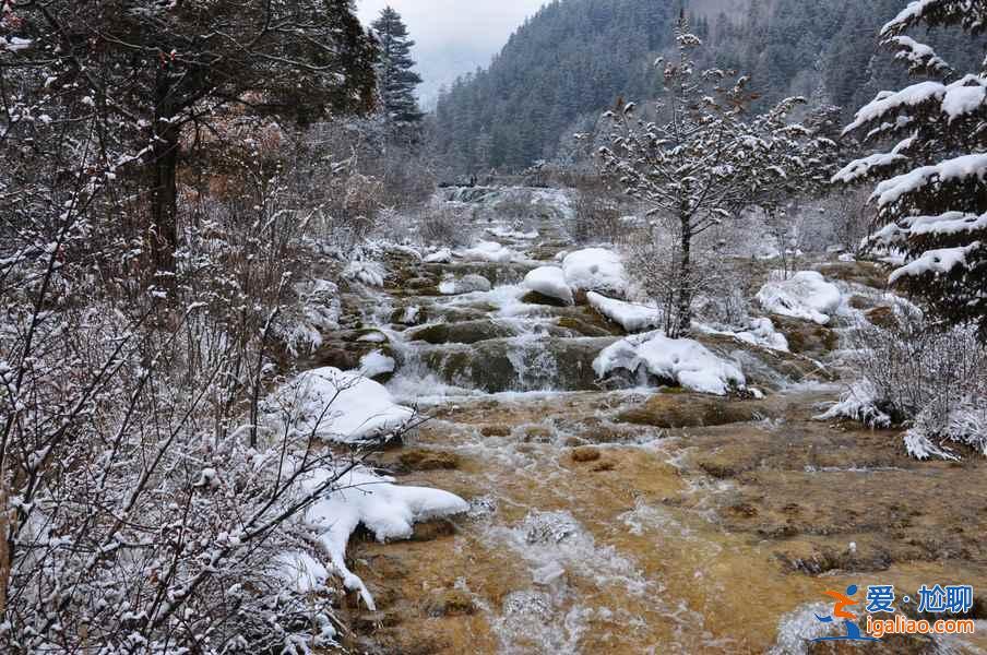
[[742, 389], [746, 384], [736, 365], [717, 357], [699, 342], [668, 338], [659, 332], [621, 340], [593, 361], [593, 370], [599, 378], [616, 369], [637, 372], [642, 367], [653, 376], [702, 393], [726, 395], [730, 388]]

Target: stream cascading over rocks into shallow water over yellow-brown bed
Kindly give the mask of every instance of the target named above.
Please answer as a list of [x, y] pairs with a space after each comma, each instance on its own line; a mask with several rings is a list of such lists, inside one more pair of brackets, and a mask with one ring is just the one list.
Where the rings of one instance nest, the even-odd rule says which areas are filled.
[[[354, 300], [399, 362], [389, 389], [432, 417], [374, 463], [472, 507], [411, 541], [352, 545], [379, 606], [348, 604], [356, 650], [829, 653], [806, 641], [821, 634], [813, 611], [828, 588], [987, 583], [982, 547], [968, 544], [987, 527], [980, 464], [918, 465], [892, 434], [813, 421], [840, 386], [809, 358], [705, 340], [742, 361], [762, 401], [602, 389], [592, 361], [621, 330], [584, 305], [533, 301], [520, 284], [572, 248], [568, 200], [513, 193], [531, 207], [516, 223], [497, 217], [498, 192], [450, 198], [492, 207], [483, 238], [521, 257], [394, 255], [384, 289]], [[471, 275], [491, 289], [439, 290]], [[971, 497], [937, 493], [946, 475], [968, 477]]]

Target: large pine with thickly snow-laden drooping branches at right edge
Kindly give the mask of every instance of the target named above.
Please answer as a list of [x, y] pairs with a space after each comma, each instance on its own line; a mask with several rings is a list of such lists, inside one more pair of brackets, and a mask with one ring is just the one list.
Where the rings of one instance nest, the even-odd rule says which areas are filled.
[[891, 282], [923, 297], [948, 324], [975, 323], [987, 341], [987, 59], [963, 73], [906, 35], [919, 26], [959, 26], [976, 37], [987, 29], [987, 3], [912, 2], [882, 28], [883, 45], [930, 79], [881, 92], [857, 111], [846, 133], [896, 145], [834, 179], [883, 178], [871, 196], [883, 227], [870, 242], [905, 255]]

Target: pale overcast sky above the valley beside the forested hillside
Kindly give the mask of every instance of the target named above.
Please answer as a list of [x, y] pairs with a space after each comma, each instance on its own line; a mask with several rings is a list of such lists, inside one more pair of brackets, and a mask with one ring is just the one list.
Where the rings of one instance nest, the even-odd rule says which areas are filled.
[[486, 67], [524, 19], [547, 0], [357, 0], [360, 20], [370, 24], [380, 10], [393, 7], [415, 39], [419, 87], [429, 105], [442, 84]]

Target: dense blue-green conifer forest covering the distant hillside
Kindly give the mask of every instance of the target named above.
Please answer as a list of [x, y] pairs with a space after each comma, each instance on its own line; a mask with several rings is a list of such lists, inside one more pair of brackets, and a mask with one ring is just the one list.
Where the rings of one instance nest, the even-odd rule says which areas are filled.
[[[704, 41], [699, 66], [750, 74], [762, 94], [759, 108], [798, 95], [841, 107], [844, 119], [907, 78], [876, 37], [900, 9], [897, 0], [686, 2]], [[593, 131], [618, 97], [661, 94], [652, 63], [669, 47], [680, 10], [678, 0], [546, 4], [487, 69], [440, 95], [436, 147], [460, 174], [571, 159], [571, 134]], [[950, 61], [978, 63], [950, 33], [932, 34], [929, 43]]]

